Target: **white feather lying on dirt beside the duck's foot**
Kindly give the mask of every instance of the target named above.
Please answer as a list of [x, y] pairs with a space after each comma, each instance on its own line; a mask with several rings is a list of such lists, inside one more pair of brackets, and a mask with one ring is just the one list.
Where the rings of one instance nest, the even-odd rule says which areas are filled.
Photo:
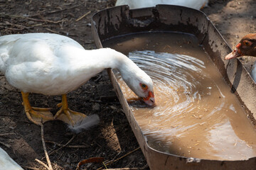
[[68, 125], [68, 128], [71, 132], [80, 133], [83, 130], [88, 130], [92, 126], [97, 125], [100, 122], [98, 115], [88, 115], [84, 119], [80, 120], [78, 123], [75, 123], [74, 126]]

